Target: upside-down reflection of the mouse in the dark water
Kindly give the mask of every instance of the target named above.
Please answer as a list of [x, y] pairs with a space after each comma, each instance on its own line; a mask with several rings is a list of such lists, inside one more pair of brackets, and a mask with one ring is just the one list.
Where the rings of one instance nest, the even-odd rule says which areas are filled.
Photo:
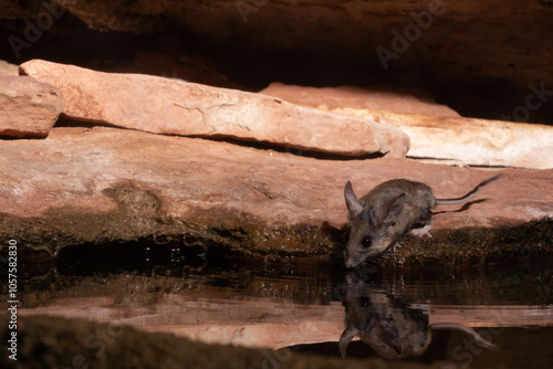
[[431, 342], [431, 328], [459, 329], [472, 336], [484, 348], [495, 348], [476, 330], [457, 324], [429, 324], [429, 309], [409, 307], [399, 297], [362, 281], [346, 284], [345, 330], [340, 338], [340, 352], [346, 356], [347, 346], [356, 336], [385, 359], [398, 360], [422, 355]]

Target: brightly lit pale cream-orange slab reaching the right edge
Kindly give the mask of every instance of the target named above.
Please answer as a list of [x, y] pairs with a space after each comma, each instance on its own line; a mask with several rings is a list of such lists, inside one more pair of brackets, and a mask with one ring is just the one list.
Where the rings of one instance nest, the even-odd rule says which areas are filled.
[[551, 126], [374, 109], [333, 110], [401, 129], [410, 138], [411, 158], [487, 167], [553, 168]]

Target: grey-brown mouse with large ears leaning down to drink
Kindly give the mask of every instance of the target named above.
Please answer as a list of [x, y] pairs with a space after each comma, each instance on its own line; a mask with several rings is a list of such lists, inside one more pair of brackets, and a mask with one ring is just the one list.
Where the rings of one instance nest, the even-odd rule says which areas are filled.
[[436, 199], [430, 187], [407, 179], [386, 181], [357, 199], [352, 182], [347, 181], [344, 197], [349, 211], [349, 239], [344, 252], [345, 266], [354, 267], [383, 255], [409, 230], [416, 235], [429, 235], [430, 209], [467, 202], [499, 177], [484, 180], [458, 199]]

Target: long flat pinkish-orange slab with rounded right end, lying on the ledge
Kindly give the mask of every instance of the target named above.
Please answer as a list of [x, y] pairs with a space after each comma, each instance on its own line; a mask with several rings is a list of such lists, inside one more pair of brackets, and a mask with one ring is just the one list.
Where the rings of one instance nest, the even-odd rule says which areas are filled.
[[21, 70], [58, 86], [64, 115], [156, 134], [231, 137], [346, 156], [409, 147], [399, 129], [261, 94], [138, 74], [30, 61]]

